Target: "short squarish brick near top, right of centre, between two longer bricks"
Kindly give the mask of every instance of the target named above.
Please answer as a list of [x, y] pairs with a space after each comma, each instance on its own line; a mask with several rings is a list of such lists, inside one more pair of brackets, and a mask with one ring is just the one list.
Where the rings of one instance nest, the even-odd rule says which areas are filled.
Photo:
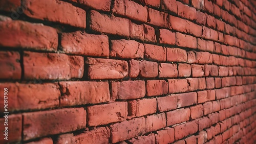
[[167, 16], [168, 16], [167, 13], [148, 8], [147, 21], [151, 25], [167, 28], [168, 27]]

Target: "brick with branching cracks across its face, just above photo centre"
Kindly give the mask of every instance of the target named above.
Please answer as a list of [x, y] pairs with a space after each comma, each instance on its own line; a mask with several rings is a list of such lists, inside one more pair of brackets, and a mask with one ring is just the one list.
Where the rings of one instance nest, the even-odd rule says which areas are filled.
[[135, 40], [111, 40], [110, 56], [127, 59], [143, 58], [144, 45]]

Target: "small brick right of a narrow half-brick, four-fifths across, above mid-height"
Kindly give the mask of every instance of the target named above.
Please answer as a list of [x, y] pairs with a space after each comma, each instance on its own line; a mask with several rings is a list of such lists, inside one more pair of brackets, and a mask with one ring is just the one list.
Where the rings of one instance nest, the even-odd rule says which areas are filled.
[[198, 64], [209, 64], [212, 63], [212, 55], [208, 52], [195, 52], [196, 63]]

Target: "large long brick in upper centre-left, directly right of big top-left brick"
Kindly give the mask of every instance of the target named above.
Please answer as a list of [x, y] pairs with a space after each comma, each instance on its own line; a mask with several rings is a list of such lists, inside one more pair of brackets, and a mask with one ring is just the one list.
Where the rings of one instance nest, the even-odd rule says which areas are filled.
[[101, 14], [94, 10], [90, 13], [90, 29], [105, 34], [130, 36], [129, 19]]

